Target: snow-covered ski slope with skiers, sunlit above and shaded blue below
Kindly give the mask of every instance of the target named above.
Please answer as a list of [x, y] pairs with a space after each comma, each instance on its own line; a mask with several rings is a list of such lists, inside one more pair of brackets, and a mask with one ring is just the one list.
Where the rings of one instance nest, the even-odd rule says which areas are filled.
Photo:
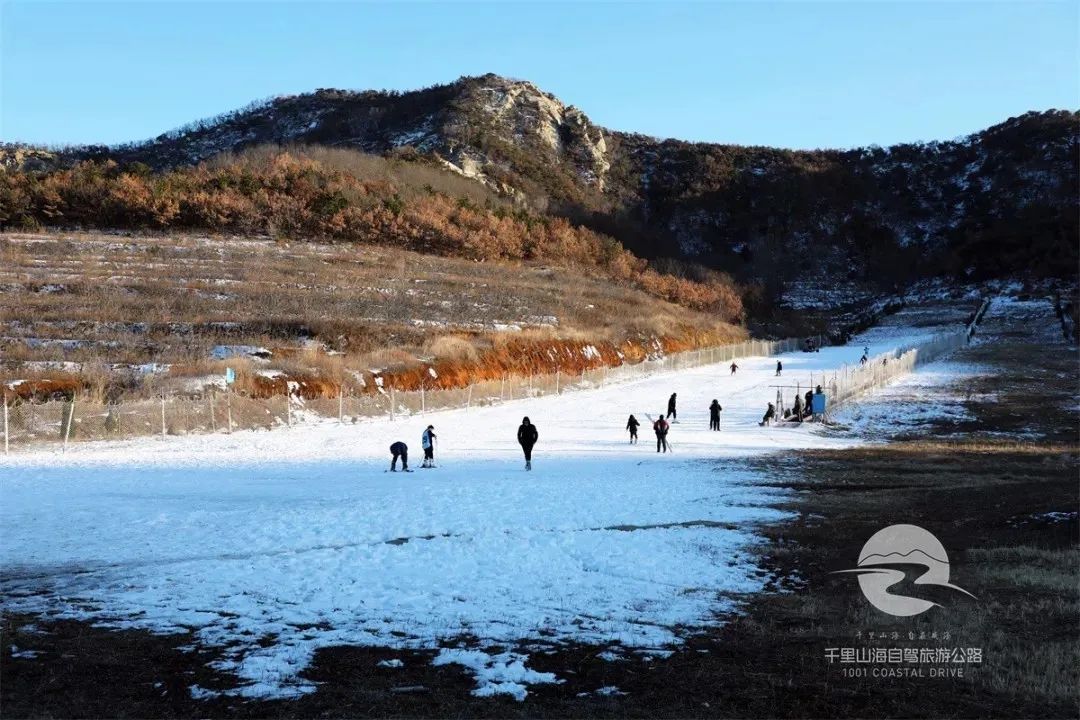
[[[932, 331], [867, 337], [877, 353]], [[770, 385], [805, 388], [862, 348], [784, 355], [779, 379], [775, 357], [746, 358], [734, 376], [702, 367], [394, 422], [0, 458], [4, 606], [195, 628], [230, 648], [226, 668], [252, 695], [308, 689], [297, 674], [314, 650], [341, 643], [445, 647], [468, 634], [481, 648], [581, 640], [654, 651], [767, 580], [748, 551], [755, 524], [782, 517], [781, 491], [726, 460], [854, 441], [758, 426]], [[658, 454], [647, 416], [673, 392], [674, 452]], [[714, 397], [719, 433], [707, 430]], [[636, 446], [623, 430], [631, 412], [643, 423]], [[515, 439], [523, 416], [540, 433], [531, 473]], [[420, 470], [429, 423], [440, 466]], [[415, 473], [386, 472], [396, 439]], [[522, 696], [513, 676], [487, 673], [480, 691]]]

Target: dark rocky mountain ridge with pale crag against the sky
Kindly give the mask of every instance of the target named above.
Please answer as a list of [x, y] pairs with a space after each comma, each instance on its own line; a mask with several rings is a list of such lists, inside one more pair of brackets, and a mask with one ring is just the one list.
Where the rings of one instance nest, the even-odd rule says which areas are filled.
[[[1027, 113], [944, 142], [850, 151], [688, 144], [605, 130], [529, 82], [462, 78], [410, 93], [280, 97], [86, 158], [153, 168], [262, 144], [350, 147], [436, 163], [638, 254], [760, 282], [810, 275], [895, 286], [914, 276], [1072, 277], [1080, 114]], [[27, 160], [36, 163], [30, 167]]]

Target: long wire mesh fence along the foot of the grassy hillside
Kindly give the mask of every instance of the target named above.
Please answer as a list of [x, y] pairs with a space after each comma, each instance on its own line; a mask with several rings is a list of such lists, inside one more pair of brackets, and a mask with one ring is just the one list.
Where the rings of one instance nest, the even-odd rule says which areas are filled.
[[[821, 342], [821, 339], [816, 339]], [[544, 397], [577, 390], [602, 388], [654, 375], [743, 357], [774, 355], [804, 347], [804, 340], [748, 340], [701, 350], [658, 355], [640, 363], [600, 367], [583, 372], [550, 375], [507, 375], [498, 380], [475, 382], [460, 389], [397, 391], [392, 386], [377, 392], [342, 390], [337, 397], [302, 398], [295, 395], [254, 398], [220, 389], [203, 393], [171, 395], [108, 403], [77, 395], [65, 400], [31, 402], [3, 397], [3, 449], [32, 443], [62, 444], [190, 433], [231, 433], [242, 430], [271, 430], [301, 423], [362, 419], [395, 419], [437, 410], [473, 408], [527, 397]]]

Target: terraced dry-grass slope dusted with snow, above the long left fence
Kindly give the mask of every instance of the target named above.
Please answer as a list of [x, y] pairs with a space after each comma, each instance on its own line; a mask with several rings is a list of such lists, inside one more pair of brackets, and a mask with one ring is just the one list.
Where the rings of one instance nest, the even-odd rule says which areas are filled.
[[0, 234], [0, 381], [45, 381], [16, 392], [107, 397], [199, 392], [226, 367], [255, 396], [455, 388], [746, 336], [589, 267], [87, 232]]

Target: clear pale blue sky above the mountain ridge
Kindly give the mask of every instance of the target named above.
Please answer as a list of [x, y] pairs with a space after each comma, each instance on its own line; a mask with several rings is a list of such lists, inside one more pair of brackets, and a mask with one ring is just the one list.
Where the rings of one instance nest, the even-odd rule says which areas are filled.
[[119, 142], [272, 95], [531, 80], [602, 125], [791, 148], [1080, 107], [1080, 3], [0, 0], [0, 139]]

